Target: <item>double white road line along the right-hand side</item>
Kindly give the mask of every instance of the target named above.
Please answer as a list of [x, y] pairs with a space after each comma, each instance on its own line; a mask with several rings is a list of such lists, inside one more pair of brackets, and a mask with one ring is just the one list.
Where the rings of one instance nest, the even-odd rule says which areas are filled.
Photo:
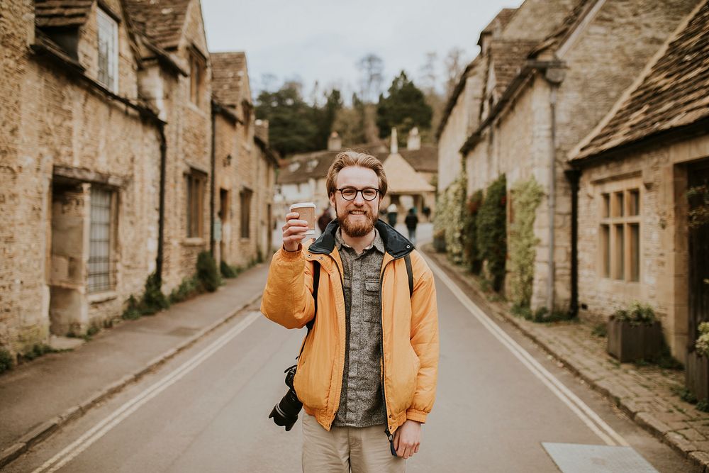
[[458, 298], [458, 300], [467, 308], [475, 318], [492, 334], [498, 339], [500, 343], [505, 345], [510, 352], [512, 352], [515, 357], [517, 357], [520, 362], [522, 362], [527, 369], [532, 372], [542, 383], [549, 388], [552, 393], [554, 393], [566, 406], [568, 406], [571, 411], [573, 411], [576, 416], [585, 423], [588, 428], [590, 428], [593, 433], [596, 433], [598, 437], [606, 443], [606, 445], [623, 445], [624, 447], [630, 446], [629, 443], [613, 428], [610, 427], [597, 413], [595, 413], [584, 401], [581, 401], [576, 394], [574, 394], [569, 388], [564, 386], [562, 382], [559, 381], [553, 374], [551, 374], [545, 367], [540, 365], [532, 355], [530, 355], [527, 350], [521, 347], [510, 335], [507, 335], [504, 330], [502, 330], [499, 325], [494, 322], [486, 313], [484, 313], [481, 308], [479, 308], [473, 301], [469, 299], [467, 294], [465, 294], [462, 289], [455, 284], [450, 277], [448, 277], [445, 272], [443, 272], [438, 265], [435, 264], [430, 258], [426, 258], [428, 265], [431, 267], [432, 271], [438, 279], [440, 279], [447, 287], [452, 291], [452, 293]]

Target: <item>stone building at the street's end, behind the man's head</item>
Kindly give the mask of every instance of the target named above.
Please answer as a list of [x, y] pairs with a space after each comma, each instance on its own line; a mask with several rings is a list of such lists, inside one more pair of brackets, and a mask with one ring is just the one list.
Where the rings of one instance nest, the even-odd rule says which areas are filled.
[[[318, 215], [328, 208], [330, 199], [325, 177], [335, 156], [343, 149], [342, 140], [337, 132], [333, 132], [328, 140], [328, 150], [294, 155], [281, 166], [274, 197], [275, 221], [283, 221], [289, 206], [296, 202], [314, 202]], [[437, 179], [437, 151], [435, 146], [420, 143], [418, 129], [411, 130], [406, 150], [399, 150], [396, 140], [389, 148], [379, 142], [355, 145], [352, 149], [369, 152], [384, 165], [390, 186], [382, 208], [393, 202], [399, 207], [400, 216], [412, 206], [420, 213], [425, 206], [431, 211], [435, 209], [435, 187], [431, 183]], [[403, 221], [403, 217], [401, 219]]]

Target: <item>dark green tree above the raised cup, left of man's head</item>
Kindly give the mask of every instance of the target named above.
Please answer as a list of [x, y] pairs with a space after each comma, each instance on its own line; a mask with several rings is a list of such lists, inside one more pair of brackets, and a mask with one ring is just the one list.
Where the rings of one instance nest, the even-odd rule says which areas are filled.
[[289, 81], [278, 91], [262, 91], [256, 100], [256, 116], [269, 121], [270, 145], [281, 155], [319, 149], [316, 116], [301, 89], [301, 84]]

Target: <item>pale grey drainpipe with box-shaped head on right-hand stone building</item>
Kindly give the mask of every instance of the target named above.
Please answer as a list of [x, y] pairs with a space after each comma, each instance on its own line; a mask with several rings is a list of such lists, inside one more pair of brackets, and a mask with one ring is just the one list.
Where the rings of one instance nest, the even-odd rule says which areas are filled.
[[561, 67], [549, 67], [545, 71], [545, 79], [549, 82], [551, 93], [549, 94], [549, 113], [551, 121], [551, 152], [549, 152], [549, 277], [547, 279], [547, 309], [549, 313], [554, 312], [554, 282], [555, 262], [554, 262], [554, 226], [557, 208], [557, 90], [559, 84], [564, 80], [564, 69]]

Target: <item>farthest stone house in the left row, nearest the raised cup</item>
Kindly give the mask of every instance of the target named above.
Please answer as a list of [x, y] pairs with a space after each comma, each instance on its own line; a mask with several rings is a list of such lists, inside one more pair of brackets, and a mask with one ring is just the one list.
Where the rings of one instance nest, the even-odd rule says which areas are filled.
[[244, 52], [213, 52], [215, 235], [218, 262], [244, 266], [271, 252], [277, 157], [256, 121]]

